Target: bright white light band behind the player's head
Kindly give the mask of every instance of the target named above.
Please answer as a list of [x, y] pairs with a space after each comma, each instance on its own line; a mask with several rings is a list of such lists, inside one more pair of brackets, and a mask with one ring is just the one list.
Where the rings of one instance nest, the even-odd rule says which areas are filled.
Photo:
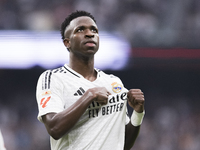
[[[102, 32], [95, 67], [123, 69], [130, 49], [124, 39]], [[69, 52], [59, 32], [0, 31], [0, 68], [28, 69], [38, 65], [49, 69], [68, 60]]]

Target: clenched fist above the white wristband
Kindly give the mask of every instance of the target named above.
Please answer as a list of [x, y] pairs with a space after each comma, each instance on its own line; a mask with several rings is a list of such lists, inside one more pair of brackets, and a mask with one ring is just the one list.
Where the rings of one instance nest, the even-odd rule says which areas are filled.
[[138, 113], [144, 111], [144, 93], [140, 89], [130, 89], [127, 93], [128, 104]]

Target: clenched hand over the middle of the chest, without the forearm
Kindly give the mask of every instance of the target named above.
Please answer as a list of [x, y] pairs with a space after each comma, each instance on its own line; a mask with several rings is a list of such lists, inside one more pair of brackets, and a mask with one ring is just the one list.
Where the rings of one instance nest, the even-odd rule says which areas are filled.
[[108, 96], [111, 95], [111, 93], [105, 87], [95, 87], [89, 90], [93, 94], [93, 101], [101, 105], [106, 105], [108, 103]]

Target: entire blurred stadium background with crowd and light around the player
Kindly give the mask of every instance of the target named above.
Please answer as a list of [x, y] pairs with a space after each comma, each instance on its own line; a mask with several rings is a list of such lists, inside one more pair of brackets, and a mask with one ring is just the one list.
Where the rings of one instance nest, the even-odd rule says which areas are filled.
[[68, 62], [59, 30], [75, 10], [97, 20], [96, 67], [145, 94], [146, 115], [132, 150], [199, 150], [199, 0], [0, 0], [0, 128], [6, 148], [50, 149], [37, 120], [35, 88], [44, 70]]

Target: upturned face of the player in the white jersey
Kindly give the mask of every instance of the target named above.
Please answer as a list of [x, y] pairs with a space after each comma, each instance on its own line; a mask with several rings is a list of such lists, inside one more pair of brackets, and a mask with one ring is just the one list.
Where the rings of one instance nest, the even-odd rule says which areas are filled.
[[96, 23], [87, 16], [71, 21], [65, 31], [65, 45], [70, 52], [90, 56], [99, 48], [99, 34]]

